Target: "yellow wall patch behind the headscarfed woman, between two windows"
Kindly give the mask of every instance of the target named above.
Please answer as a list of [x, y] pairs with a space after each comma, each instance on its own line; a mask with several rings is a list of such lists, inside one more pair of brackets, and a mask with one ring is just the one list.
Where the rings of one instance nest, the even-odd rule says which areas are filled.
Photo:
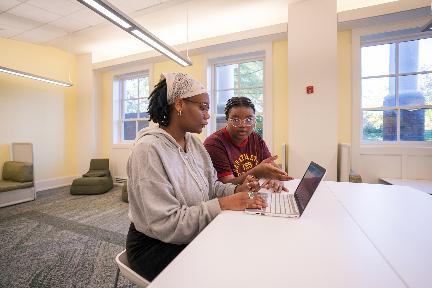
[[[159, 83], [159, 77], [161, 73], [172, 73], [172, 72], [181, 72], [186, 73], [202, 82], [203, 78], [203, 70], [202, 70], [202, 61], [201, 55], [191, 57], [191, 61], [194, 63], [193, 66], [182, 67], [175, 63], [172, 60], [159, 62], [153, 64], [153, 86]], [[194, 134], [198, 138], [202, 140], [201, 134]]]

